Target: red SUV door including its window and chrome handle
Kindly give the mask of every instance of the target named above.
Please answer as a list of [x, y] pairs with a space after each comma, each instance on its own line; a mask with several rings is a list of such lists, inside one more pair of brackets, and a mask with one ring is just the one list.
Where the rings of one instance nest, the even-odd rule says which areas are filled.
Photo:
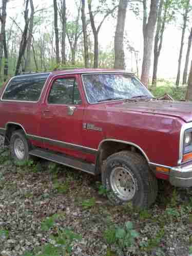
[[41, 137], [44, 148], [81, 157], [84, 106], [78, 77], [59, 76], [51, 82], [42, 104]]

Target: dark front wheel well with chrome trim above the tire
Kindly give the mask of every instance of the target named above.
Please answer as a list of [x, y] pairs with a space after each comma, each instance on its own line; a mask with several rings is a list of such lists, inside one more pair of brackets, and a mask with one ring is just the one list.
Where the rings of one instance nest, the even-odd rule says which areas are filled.
[[137, 144], [117, 139], [104, 139], [100, 142], [98, 147], [98, 154], [96, 159], [96, 172], [101, 173], [102, 162], [107, 159], [108, 156], [120, 152], [120, 151], [132, 151], [137, 152], [143, 156], [147, 163], [149, 163], [149, 158], [144, 150]]

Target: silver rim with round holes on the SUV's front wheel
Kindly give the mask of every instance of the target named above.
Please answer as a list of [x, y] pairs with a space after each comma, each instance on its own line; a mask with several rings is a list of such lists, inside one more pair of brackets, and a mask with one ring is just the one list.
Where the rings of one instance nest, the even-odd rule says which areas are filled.
[[124, 201], [131, 200], [136, 193], [136, 182], [130, 171], [123, 167], [112, 170], [110, 184], [113, 193]]

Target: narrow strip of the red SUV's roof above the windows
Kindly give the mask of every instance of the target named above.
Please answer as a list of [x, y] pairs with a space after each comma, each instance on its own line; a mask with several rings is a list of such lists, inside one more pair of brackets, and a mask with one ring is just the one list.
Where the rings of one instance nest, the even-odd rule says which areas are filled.
[[[133, 75], [133, 72], [127, 70], [119, 70], [119, 69], [107, 69], [107, 68], [74, 68], [74, 69], [61, 69], [55, 71], [47, 71], [47, 72], [31, 72], [30, 74], [20, 74], [18, 76], [35, 76], [40, 74], [49, 74], [51, 76], [55, 75], [64, 75], [64, 74], [87, 74], [87, 73], [105, 73], [105, 72], [113, 72], [113, 73], [126, 73]], [[18, 77], [17, 76], [17, 77]]]

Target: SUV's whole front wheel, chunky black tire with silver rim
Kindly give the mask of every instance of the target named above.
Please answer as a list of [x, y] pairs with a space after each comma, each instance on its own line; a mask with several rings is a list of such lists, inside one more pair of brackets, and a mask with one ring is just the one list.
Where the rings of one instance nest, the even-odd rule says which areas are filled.
[[[122, 174], [122, 178], [119, 173]], [[114, 178], [115, 174], [120, 175], [118, 179]], [[128, 182], [125, 182], [125, 178]], [[107, 196], [110, 202], [114, 205], [131, 202], [134, 207], [148, 208], [155, 202], [158, 193], [157, 179], [150, 171], [145, 159], [129, 151], [118, 152], [106, 159], [102, 168], [102, 182], [108, 191]], [[116, 185], [118, 182], [124, 182], [128, 187]], [[123, 197], [124, 193], [125, 197]], [[128, 195], [130, 195], [129, 199]]]

